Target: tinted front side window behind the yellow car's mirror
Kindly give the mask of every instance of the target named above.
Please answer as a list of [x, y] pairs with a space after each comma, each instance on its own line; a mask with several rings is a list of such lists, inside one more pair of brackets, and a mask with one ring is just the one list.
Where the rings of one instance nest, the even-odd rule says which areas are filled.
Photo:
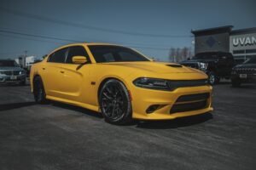
[[88, 59], [88, 61], [90, 61], [90, 58], [87, 54], [87, 52], [85, 51], [84, 47], [82, 46], [73, 46], [73, 47], [69, 47], [68, 49], [68, 54], [67, 54], [67, 59], [66, 59], [66, 63], [73, 63], [72, 58], [73, 56], [84, 56]]

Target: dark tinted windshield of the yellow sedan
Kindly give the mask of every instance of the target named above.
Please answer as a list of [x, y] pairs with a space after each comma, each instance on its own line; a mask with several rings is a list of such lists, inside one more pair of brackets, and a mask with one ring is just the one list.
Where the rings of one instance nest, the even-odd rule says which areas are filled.
[[149, 61], [142, 54], [138, 54], [131, 48], [113, 45], [90, 45], [91, 54], [97, 63], [124, 62], [124, 61]]

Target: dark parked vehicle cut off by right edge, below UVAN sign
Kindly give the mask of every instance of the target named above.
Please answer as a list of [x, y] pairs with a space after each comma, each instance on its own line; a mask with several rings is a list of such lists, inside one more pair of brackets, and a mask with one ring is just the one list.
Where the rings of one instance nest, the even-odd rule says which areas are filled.
[[256, 58], [247, 59], [243, 64], [236, 65], [231, 72], [233, 87], [239, 87], [241, 83], [256, 83]]

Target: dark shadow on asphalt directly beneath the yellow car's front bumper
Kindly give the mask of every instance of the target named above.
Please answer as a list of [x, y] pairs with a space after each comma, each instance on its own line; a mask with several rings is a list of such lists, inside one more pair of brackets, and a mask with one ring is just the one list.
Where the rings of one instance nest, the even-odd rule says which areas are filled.
[[207, 112], [197, 116], [180, 117], [168, 121], [145, 121], [137, 123], [138, 128], [168, 129], [177, 127], [189, 127], [195, 124], [207, 122], [213, 118], [212, 113]]

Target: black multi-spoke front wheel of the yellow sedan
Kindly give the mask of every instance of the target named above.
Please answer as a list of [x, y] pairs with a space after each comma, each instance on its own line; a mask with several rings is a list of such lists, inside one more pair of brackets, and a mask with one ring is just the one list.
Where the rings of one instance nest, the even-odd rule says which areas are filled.
[[102, 86], [99, 96], [102, 116], [107, 122], [125, 124], [131, 122], [130, 94], [122, 82], [110, 79]]

